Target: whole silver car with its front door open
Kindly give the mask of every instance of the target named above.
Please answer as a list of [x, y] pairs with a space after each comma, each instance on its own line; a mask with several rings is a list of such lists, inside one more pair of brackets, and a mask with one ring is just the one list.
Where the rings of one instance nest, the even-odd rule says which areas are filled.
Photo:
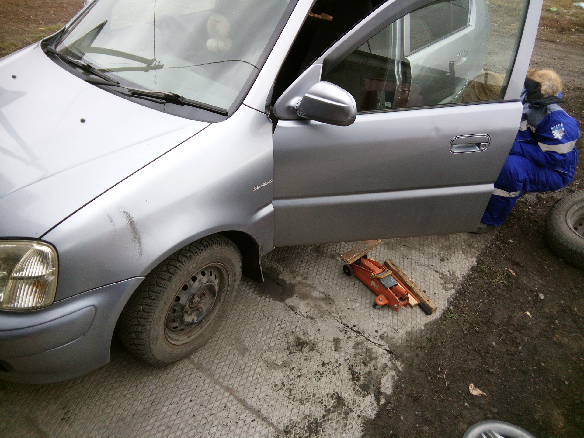
[[541, 0], [504, 6], [95, 0], [2, 58], [0, 378], [185, 357], [276, 246], [476, 228]]

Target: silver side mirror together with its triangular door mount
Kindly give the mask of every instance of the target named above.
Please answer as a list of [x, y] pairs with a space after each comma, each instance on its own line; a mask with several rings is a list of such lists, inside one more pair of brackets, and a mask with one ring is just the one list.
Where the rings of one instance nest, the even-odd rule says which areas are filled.
[[355, 121], [357, 104], [350, 93], [320, 81], [322, 65], [311, 65], [274, 104], [279, 119], [311, 119], [337, 126]]

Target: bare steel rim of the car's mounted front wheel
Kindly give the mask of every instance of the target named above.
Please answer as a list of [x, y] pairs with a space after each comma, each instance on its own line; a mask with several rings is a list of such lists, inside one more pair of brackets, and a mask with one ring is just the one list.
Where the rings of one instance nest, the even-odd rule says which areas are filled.
[[196, 339], [220, 314], [228, 284], [229, 272], [220, 263], [210, 263], [190, 274], [166, 311], [166, 340], [184, 345]]

